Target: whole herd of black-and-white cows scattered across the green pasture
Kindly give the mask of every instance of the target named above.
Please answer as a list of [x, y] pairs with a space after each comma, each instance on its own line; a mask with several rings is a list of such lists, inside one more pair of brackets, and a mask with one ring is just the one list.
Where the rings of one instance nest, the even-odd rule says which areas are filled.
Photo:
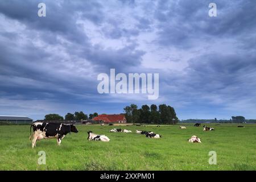
[[[200, 123], [196, 123], [194, 126], [201, 126]], [[158, 127], [160, 127], [158, 125]], [[203, 131], [212, 131], [213, 127], [203, 126]], [[239, 126], [238, 126], [239, 127]], [[33, 129], [33, 133], [31, 135], [31, 129]], [[180, 129], [186, 129], [185, 126], [180, 126]], [[36, 141], [40, 139], [51, 139], [57, 138], [57, 144], [60, 145], [61, 140], [67, 135], [73, 133], [78, 133], [79, 131], [76, 129], [74, 125], [68, 125], [63, 123], [44, 123], [44, 122], [34, 122], [30, 126], [30, 139], [32, 138], [32, 148], [36, 146]], [[112, 129], [110, 132], [123, 132], [123, 133], [132, 133], [130, 130], [122, 130], [122, 129]], [[137, 134], [146, 135], [147, 138], [161, 138], [162, 135], [155, 134], [152, 131], [139, 131], [136, 130]], [[92, 131], [88, 131], [88, 140], [96, 140], [102, 142], [109, 142], [110, 139], [105, 135], [94, 134]], [[193, 135], [188, 142], [192, 143], [201, 143], [201, 139], [197, 136]]]

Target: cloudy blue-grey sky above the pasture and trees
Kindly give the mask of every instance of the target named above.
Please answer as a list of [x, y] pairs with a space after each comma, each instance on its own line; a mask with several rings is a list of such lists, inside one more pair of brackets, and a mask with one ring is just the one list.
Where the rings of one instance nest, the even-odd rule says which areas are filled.
[[[254, 0], [0, 1], [0, 115], [167, 104], [179, 119], [255, 119], [255, 12]], [[111, 68], [159, 73], [158, 99], [98, 93]]]

